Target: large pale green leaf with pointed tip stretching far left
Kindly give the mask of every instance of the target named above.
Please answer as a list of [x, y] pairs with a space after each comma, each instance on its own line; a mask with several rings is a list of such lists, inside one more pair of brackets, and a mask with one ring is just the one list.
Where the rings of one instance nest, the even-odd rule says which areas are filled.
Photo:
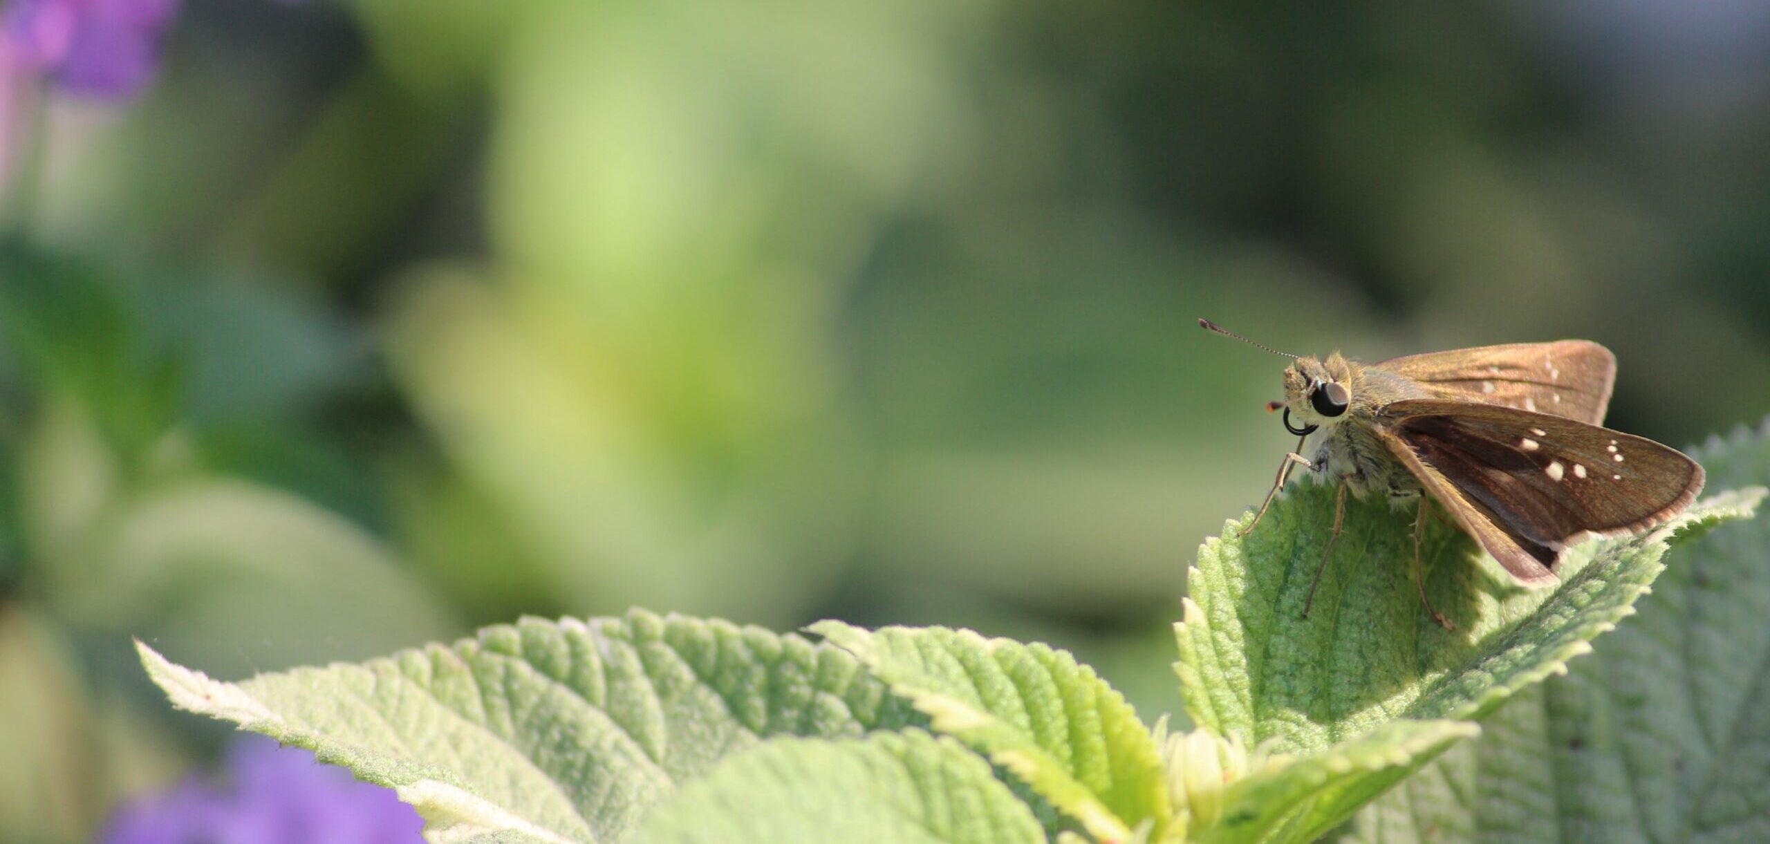
[[913, 715], [835, 648], [637, 610], [242, 683], [138, 649], [179, 708], [393, 787], [432, 840], [620, 840], [761, 738], [858, 736]]

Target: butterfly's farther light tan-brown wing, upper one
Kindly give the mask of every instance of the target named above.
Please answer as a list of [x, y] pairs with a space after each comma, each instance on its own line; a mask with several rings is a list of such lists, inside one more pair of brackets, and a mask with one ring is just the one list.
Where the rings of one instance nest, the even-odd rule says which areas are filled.
[[1377, 363], [1434, 398], [1496, 403], [1602, 425], [1616, 356], [1589, 340], [1483, 345]]

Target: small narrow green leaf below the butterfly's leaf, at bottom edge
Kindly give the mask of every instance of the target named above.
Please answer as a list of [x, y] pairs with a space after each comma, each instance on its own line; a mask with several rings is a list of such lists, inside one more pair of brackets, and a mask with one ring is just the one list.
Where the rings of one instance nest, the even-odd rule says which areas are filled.
[[1228, 787], [1221, 821], [1197, 830], [1211, 844], [1315, 840], [1428, 759], [1480, 727], [1457, 720], [1397, 720], [1368, 734]]

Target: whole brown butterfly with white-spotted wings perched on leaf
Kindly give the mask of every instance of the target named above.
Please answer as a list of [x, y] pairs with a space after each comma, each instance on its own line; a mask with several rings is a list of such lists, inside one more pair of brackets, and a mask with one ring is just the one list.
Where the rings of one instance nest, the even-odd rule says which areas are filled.
[[[1246, 534], [1297, 465], [1336, 483], [1333, 534], [1310, 582], [1315, 600], [1345, 517], [1345, 495], [1428, 497], [1520, 584], [1547, 586], [1568, 549], [1588, 536], [1627, 536], [1678, 515], [1703, 490], [1703, 467], [1646, 437], [1604, 428], [1616, 356], [1588, 340], [1512, 343], [1414, 354], [1363, 364], [1278, 352], [1211, 320], [1209, 331], [1292, 359], [1285, 368], [1285, 455]], [[1312, 434], [1320, 444], [1303, 448]], [[1414, 518], [1414, 580], [1427, 504]]]

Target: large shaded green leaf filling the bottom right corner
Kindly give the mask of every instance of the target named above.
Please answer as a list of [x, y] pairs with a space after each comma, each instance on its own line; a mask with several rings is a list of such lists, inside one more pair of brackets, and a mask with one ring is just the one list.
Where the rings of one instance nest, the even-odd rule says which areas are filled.
[[[1696, 457], [1713, 487], [1766, 483], [1770, 426]], [[1589, 658], [1508, 702], [1349, 837], [1770, 840], [1766, 563], [1765, 520], [1680, 545]]]

